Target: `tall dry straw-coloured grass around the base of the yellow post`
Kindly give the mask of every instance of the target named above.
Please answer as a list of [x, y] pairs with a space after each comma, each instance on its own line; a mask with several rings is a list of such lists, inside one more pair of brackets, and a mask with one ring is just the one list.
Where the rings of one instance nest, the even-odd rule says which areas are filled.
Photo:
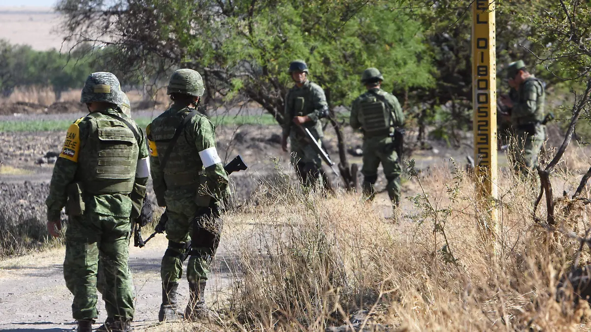
[[[493, 255], [473, 180], [453, 165], [419, 178], [425, 192], [400, 223], [352, 194], [304, 193], [281, 171], [261, 183], [256, 204], [226, 217], [235, 282], [218, 294], [219, 329], [586, 330], [586, 302], [556, 301], [579, 243], [532, 222], [531, 183], [502, 175]], [[582, 235], [589, 218], [577, 209], [559, 223]]]

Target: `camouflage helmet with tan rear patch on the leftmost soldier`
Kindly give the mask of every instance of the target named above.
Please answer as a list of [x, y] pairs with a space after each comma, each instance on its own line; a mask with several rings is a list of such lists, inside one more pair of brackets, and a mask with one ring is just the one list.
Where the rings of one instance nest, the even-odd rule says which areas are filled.
[[98, 71], [86, 78], [80, 95], [81, 103], [105, 102], [120, 105], [122, 101], [119, 80], [112, 73]]

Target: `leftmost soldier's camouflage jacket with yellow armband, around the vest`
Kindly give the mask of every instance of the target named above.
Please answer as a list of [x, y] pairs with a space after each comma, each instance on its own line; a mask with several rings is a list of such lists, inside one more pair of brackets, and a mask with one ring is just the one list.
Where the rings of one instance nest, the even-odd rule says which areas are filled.
[[[57, 158], [56, 165], [53, 168], [53, 174], [51, 175], [50, 191], [46, 199], [47, 205], [47, 220], [55, 221], [60, 218], [61, 209], [66, 206], [67, 202], [67, 187], [76, 181], [85, 180], [83, 177], [96, 170], [88, 170], [88, 161], [86, 155], [83, 153], [84, 149], [90, 147], [89, 135], [91, 131], [96, 130], [93, 128], [93, 121], [96, 119], [116, 123], [119, 126], [123, 126], [124, 123], [116, 119], [111, 118], [106, 114], [114, 114], [126, 119], [131, 125], [135, 126], [135, 130], [140, 136], [140, 141], [137, 142], [135, 138], [132, 138], [132, 142], [138, 145], [138, 157], [135, 163], [132, 162], [131, 170], [136, 172], [138, 176], [136, 166], [139, 160], [148, 158], [148, 149], [145, 144], [144, 133], [141, 131], [139, 126], [134, 122], [133, 119], [127, 117], [119, 109], [105, 109], [100, 112], [90, 113], [84, 118], [78, 119], [74, 124], [77, 125], [78, 134], [68, 131], [66, 135], [66, 141], [61, 151], [60, 157]], [[70, 127], [72, 128], [72, 126]], [[126, 125], [125, 125], [126, 128]], [[78, 158], [80, 157], [80, 158]], [[147, 160], [146, 160], [147, 161]], [[86, 168], [85, 168], [86, 167]], [[115, 194], [98, 194], [89, 195], [85, 194], [83, 200], [86, 205], [86, 212], [94, 212], [103, 214], [106, 216], [119, 216], [129, 217], [132, 211], [132, 201], [135, 194], [136, 188], [139, 186], [142, 188], [141, 198], [145, 194], [145, 185], [148, 182], [148, 174], [143, 177], [135, 177], [134, 190], [132, 193], [115, 193]]]

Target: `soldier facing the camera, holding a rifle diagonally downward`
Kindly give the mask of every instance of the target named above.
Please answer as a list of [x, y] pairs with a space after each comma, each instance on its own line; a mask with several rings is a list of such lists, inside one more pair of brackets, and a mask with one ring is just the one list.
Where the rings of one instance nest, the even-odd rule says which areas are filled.
[[310, 82], [308, 66], [303, 60], [291, 62], [289, 73], [296, 85], [285, 96], [285, 123], [281, 148], [287, 152], [287, 138], [290, 138], [291, 164], [296, 168], [296, 174], [302, 184], [311, 185], [319, 181], [322, 183], [322, 158], [311, 146], [313, 142], [307, 141], [300, 129], [294, 126], [308, 128], [312, 136], [322, 143], [324, 134], [320, 119], [328, 115], [324, 90], [318, 84]]

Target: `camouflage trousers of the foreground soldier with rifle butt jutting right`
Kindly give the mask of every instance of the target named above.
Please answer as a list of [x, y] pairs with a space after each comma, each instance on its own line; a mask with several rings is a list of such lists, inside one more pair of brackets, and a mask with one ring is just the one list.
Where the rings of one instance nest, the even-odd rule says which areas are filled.
[[[166, 237], [168, 239], [167, 252], [162, 258], [160, 276], [164, 284], [178, 282], [183, 276], [183, 260], [181, 256], [189, 253], [187, 263], [187, 281], [205, 282], [210, 271], [210, 265], [219, 245], [222, 231], [222, 221], [219, 217], [200, 216], [195, 221], [198, 207], [193, 197], [180, 200], [168, 200], [166, 213]], [[191, 248], [178, 248], [174, 243], [185, 245], [191, 240]], [[171, 243], [172, 242], [172, 243]], [[187, 252], [187, 250], [190, 250]]]

